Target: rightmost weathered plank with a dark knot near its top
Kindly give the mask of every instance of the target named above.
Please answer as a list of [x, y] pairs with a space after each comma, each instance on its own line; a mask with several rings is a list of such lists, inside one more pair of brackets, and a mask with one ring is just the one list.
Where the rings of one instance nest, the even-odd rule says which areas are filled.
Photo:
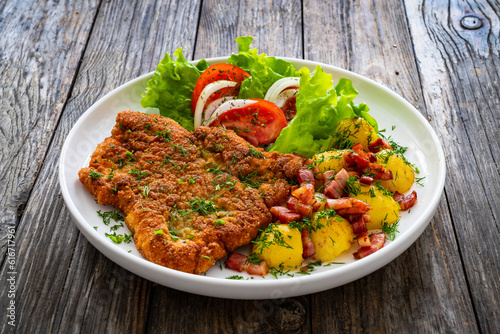
[[[479, 328], [497, 333], [500, 3], [428, 1], [406, 7], [426, 107], [445, 143], [446, 195]], [[482, 27], [462, 26], [470, 15]]]

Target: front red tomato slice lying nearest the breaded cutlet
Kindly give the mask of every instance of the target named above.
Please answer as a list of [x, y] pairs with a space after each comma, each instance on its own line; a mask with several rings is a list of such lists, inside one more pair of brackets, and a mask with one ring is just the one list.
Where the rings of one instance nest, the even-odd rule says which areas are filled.
[[224, 126], [233, 130], [255, 146], [272, 143], [287, 126], [285, 114], [272, 102], [252, 99], [257, 102], [242, 108], [229, 109], [210, 126]]

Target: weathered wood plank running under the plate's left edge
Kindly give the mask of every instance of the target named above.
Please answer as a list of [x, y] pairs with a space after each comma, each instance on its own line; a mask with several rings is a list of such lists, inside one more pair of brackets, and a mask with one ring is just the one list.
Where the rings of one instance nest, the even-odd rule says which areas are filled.
[[109, 261], [78, 232], [60, 198], [57, 164], [69, 130], [98, 98], [154, 69], [167, 50], [183, 45], [192, 55], [198, 6], [196, 1], [100, 6], [71, 99], [19, 222], [18, 332], [144, 332], [151, 283]]

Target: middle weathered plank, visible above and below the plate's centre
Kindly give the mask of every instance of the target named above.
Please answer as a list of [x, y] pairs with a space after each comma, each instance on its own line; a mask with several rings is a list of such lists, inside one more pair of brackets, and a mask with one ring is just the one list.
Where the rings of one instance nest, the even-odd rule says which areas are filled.
[[[230, 55], [243, 35], [253, 36], [260, 52], [301, 58], [300, 8], [299, 1], [241, 1], [236, 8], [230, 1], [204, 1], [195, 59]], [[310, 326], [308, 297], [224, 300], [154, 285], [150, 303], [151, 333], [304, 333]]]

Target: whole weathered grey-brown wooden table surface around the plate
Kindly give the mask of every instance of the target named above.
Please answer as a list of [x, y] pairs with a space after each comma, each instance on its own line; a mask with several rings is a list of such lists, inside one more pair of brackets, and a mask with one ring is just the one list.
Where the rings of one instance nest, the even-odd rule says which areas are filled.
[[[0, 2], [1, 332], [499, 333], [499, 15], [495, 0]], [[296, 298], [208, 298], [128, 272], [76, 228], [57, 164], [78, 118], [166, 52], [224, 56], [242, 35], [380, 82], [437, 131], [444, 195], [389, 265]]]

